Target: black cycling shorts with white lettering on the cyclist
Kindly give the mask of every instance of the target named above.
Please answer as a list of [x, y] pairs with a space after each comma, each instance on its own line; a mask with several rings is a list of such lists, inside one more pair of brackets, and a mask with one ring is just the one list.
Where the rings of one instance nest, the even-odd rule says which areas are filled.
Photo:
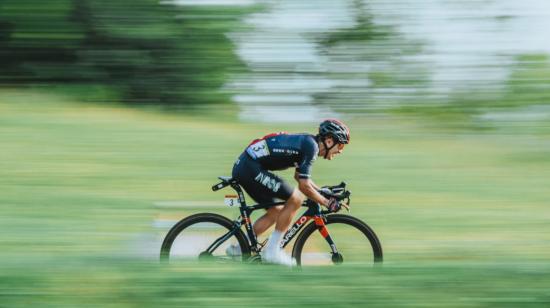
[[278, 175], [264, 169], [259, 162], [243, 153], [233, 166], [232, 176], [257, 203], [286, 201], [294, 187]]

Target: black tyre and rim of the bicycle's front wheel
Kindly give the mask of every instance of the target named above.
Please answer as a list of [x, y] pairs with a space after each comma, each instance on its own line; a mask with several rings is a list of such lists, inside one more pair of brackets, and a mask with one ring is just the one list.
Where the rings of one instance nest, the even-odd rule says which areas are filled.
[[[354, 249], [364, 248], [368, 250], [369, 254], [372, 255], [372, 259], [369, 260], [369, 256], [364, 256], [364, 262], [362, 260], [362, 255], [359, 254], [359, 263], [361, 264], [376, 264], [381, 263], [383, 261], [383, 253], [382, 253], [382, 245], [380, 244], [380, 240], [378, 239], [378, 236], [376, 236], [376, 233], [362, 220], [355, 218], [353, 216], [349, 215], [343, 215], [343, 214], [329, 214], [326, 216], [326, 225], [327, 229], [329, 231], [329, 234], [331, 235], [336, 247], [338, 248], [339, 253], [341, 253], [341, 250], [338, 244], [338, 238], [335, 238], [333, 236], [333, 232], [331, 232], [331, 229], [335, 229], [335, 226], [339, 227], [345, 227], [344, 230], [350, 230], [351, 232], [359, 231], [361, 234], [364, 235], [365, 238], [368, 239], [368, 242], [366, 245], [370, 246], [371, 249], [368, 249], [366, 247], [361, 247], [359, 243], [354, 242]], [[332, 228], [331, 228], [332, 227]], [[338, 264], [337, 260], [333, 259], [333, 255], [331, 253], [331, 248], [329, 244], [326, 242], [326, 240], [321, 236], [320, 232], [316, 232], [318, 230], [317, 226], [314, 222], [307, 225], [302, 232], [298, 235], [296, 238], [296, 242], [294, 243], [294, 247], [292, 249], [292, 256], [296, 259], [296, 263], [299, 266], [304, 265], [303, 261], [306, 259], [304, 258], [304, 246], [309, 242], [316, 241], [317, 246], [325, 246], [319, 248], [319, 250], [324, 250], [326, 254], [323, 253], [322, 258], [330, 258], [329, 260], [332, 262], [332, 264]], [[312, 237], [313, 234], [318, 234], [318, 236]], [[346, 236], [347, 237], [347, 236]], [[341, 237], [340, 240], [344, 238]], [[352, 238], [352, 240], [357, 241], [356, 237]], [[324, 244], [323, 244], [324, 243]], [[315, 247], [317, 249], [318, 247]], [[321, 257], [320, 257], [321, 258]], [[343, 258], [343, 261], [342, 261]], [[346, 255], [340, 255], [340, 261], [346, 262]], [[327, 264], [331, 264], [330, 261], [325, 261]], [[315, 262], [313, 262], [315, 263]]]

